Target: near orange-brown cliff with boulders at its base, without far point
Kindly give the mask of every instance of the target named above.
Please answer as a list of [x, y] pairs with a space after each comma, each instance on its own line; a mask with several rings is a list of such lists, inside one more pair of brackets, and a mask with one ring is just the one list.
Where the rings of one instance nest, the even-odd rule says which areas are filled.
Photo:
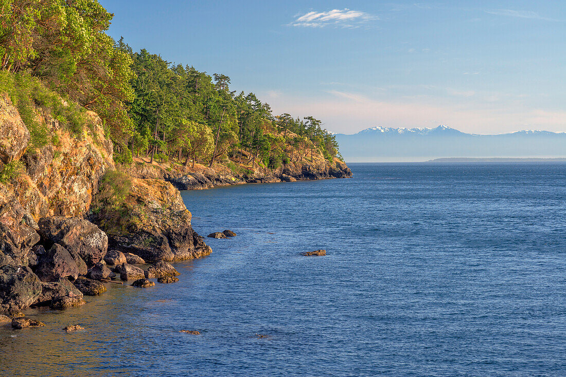
[[33, 127], [45, 130], [37, 147], [18, 109], [0, 94], [0, 311], [84, 304], [83, 291], [104, 292], [92, 289], [92, 279], [116, 276], [106, 267], [109, 248], [135, 254], [132, 263], [211, 252], [170, 183], [131, 179], [123, 202], [107, 206], [99, 198], [116, 168], [113, 145], [100, 118], [84, 115], [88, 124], [77, 132], [35, 105]]

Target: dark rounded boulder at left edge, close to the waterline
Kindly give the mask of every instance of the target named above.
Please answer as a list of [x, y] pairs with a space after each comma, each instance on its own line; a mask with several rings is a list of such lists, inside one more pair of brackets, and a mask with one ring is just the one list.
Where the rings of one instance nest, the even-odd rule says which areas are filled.
[[42, 292], [41, 281], [29, 267], [0, 267], [0, 311], [21, 310]]

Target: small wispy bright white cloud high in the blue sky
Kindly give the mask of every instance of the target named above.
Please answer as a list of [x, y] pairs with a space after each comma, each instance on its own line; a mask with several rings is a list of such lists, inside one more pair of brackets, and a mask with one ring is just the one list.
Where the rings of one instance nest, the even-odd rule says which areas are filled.
[[298, 14], [296, 17], [297, 19], [289, 25], [308, 28], [323, 28], [329, 25], [355, 28], [360, 24], [378, 19], [377, 16], [362, 11], [349, 10], [348, 8], [333, 9], [328, 12], [310, 11], [303, 15]]

